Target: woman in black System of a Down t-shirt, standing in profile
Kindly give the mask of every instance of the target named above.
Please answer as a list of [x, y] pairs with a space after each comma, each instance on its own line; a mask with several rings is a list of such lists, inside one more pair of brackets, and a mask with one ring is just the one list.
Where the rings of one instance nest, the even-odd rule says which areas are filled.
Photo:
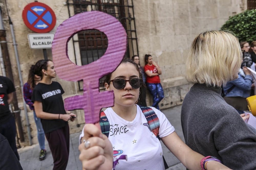
[[36, 62], [36, 74], [41, 82], [33, 90], [32, 101], [36, 116], [41, 119], [42, 127], [48, 140], [54, 159], [53, 169], [66, 169], [69, 156], [68, 120], [74, 121], [76, 115], [65, 110], [63, 88], [51, 79], [56, 77], [54, 63], [51, 60]]

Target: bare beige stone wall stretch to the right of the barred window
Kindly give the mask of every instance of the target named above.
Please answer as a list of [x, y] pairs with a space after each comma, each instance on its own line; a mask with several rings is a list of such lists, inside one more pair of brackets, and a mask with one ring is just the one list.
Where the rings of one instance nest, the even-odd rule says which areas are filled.
[[[185, 61], [197, 34], [219, 30], [221, 25], [247, 8], [245, 0], [140, 0], [134, 16], [140, 62], [151, 54], [162, 69], [165, 98], [160, 109], [181, 104], [191, 85], [185, 80]], [[147, 103], [152, 104], [148, 93]]]

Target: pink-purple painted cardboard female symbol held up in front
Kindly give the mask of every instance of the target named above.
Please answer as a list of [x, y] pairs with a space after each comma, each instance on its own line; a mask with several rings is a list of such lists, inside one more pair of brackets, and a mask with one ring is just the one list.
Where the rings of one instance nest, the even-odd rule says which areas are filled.
[[[108, 37], [105, 54], [90, 64], [77, 66], [68, 58], [68, 41], [79, 31], [97, 29]], [[56, 72], [67, 81], [83, 80], [83, 95], [65, 99], [67, 110], [83, 109], [86, 123], [99, 121], [101, 108], [114, 105], [112, 91], [99, 92], [99, 79], [113, 72], [120, 64], [127, 45], [122, 24], [113, 16], [100, 11], [83, 12], [62, 22], [52, 43], [52, 58]]]

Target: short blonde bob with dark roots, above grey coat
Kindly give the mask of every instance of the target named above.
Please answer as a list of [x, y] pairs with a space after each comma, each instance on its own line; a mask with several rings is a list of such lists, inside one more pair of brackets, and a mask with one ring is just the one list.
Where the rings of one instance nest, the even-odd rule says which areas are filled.
[[230, 31], [206, 31], [194, 39], [186, 62], [186, 79], [207, 86], [237, 78], [242, 62], [238, 38]]

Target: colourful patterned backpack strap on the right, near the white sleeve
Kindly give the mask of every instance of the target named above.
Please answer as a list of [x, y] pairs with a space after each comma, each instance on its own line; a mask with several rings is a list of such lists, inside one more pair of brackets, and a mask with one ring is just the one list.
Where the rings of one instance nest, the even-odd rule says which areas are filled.
[[[140, 106], [140, 105], [139, 105]], [[144, 106], [140, 106], [142, 113], [144, 114], [144, 116], [146, 117], [148, 126], [150, 128], [150, 130], [156, 135], [156, 137], [158, 136], [158, 131], [159, 131], [159, 119], [156, 115], [156, 113], [154, 112], [153, 109], [149, 108], [149, 107], [144, 107]]]

